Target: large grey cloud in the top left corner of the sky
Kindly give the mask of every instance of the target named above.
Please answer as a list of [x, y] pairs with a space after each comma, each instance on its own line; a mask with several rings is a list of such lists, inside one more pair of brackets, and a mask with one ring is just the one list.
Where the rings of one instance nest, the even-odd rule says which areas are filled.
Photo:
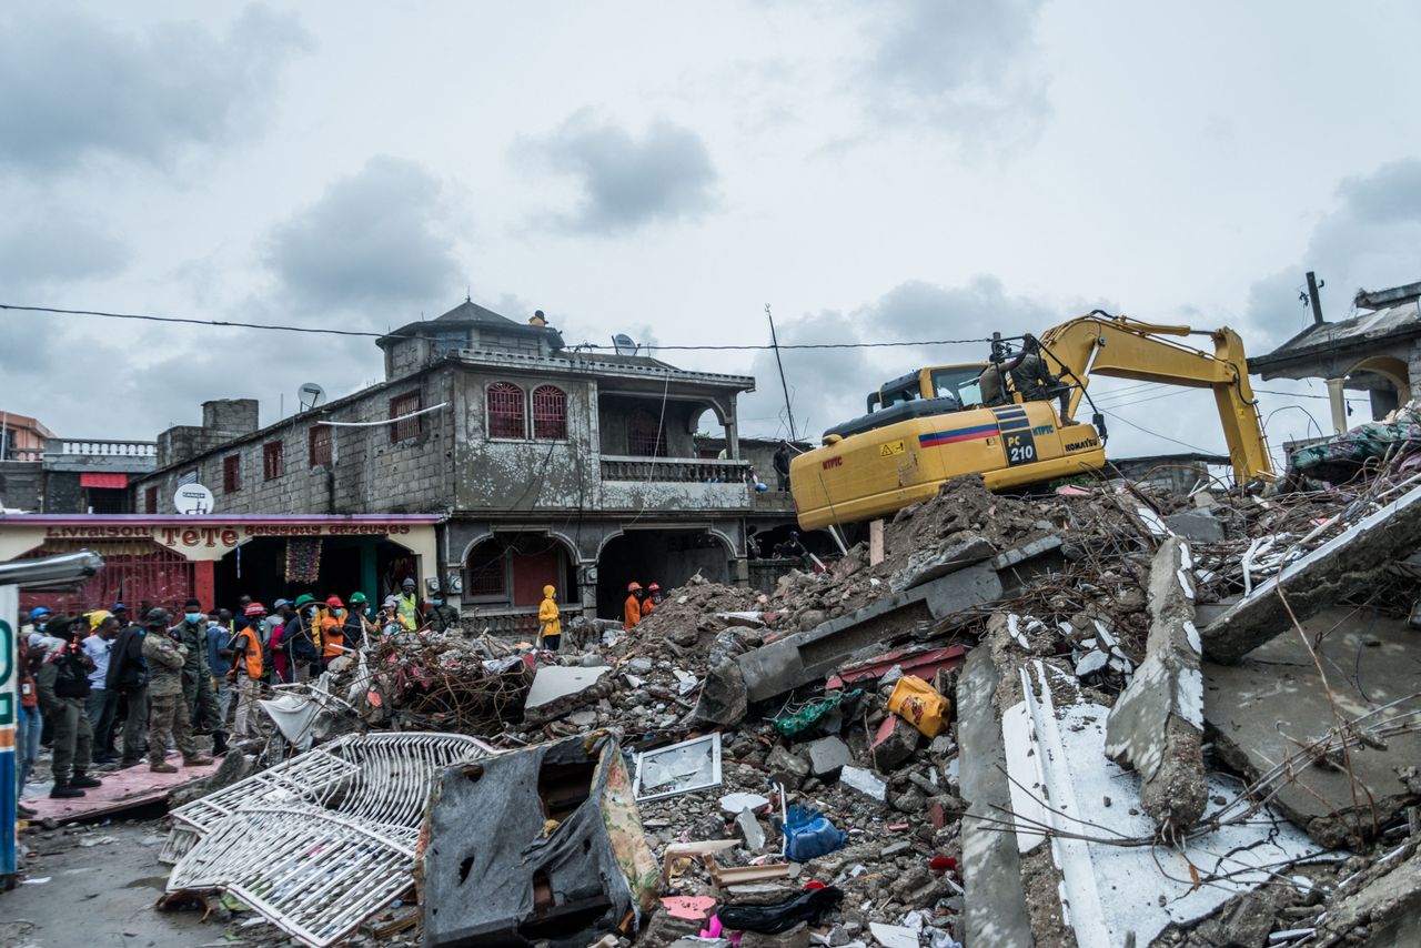
[[223, 36], [134, 36], [54, 10], [0, 17], [0, 161], [47, 171], [91, 155], [163, 163], [243, 134], [306, 48], [294, 18], [247, 7]]

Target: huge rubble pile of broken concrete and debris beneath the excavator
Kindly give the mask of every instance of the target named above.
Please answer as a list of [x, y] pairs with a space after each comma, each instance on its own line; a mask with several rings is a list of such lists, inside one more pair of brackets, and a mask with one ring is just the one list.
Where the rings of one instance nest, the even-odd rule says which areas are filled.
[[[468, 917], [530, 945], [1401, 944], [1368, 938], [1421, 911], [1401, 874], [1421, 486], [1395, 465], [1214, 486], [961, 478], [885, 524], [878, 561], [861, 543], [770, 593], [698, 576], [561, 654], [379, 642], [335, 688], [365, 728], [522, 760], [446, 772], [421, 903], [450, 908], [426, 935], [475, 944]], [[477, 829], [500, 812], [516, 831]], [[574, 814], [581, 870], [558, 843]], [[506, 866], [479, 863], [480, 834]]]

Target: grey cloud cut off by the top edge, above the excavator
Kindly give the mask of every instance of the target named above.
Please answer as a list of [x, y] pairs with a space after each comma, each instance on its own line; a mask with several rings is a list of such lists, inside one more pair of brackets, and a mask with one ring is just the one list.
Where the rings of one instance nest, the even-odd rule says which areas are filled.
[[963, 142], [1029, 141], [1050, 115], [1032, 55], [1042, 0], [899, 0], [875, 7], [877, 45], [864, 67], [872, 111], [945, 124]]

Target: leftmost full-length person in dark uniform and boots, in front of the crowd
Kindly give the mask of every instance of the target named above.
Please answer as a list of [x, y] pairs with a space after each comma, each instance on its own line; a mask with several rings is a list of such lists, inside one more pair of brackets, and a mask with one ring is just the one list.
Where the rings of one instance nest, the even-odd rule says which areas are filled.
[[58, 648], [44, 657], [37, 684], [44, 716], [54, 725], [54, 789], [50, 796], [64, 800], [84, 796], [85, 789], [99, 786], [88, 775], [94, 756], [94, 731], [84, 709], [94, 661], [80, 642], [81, 620], [55, 618], [45, 631], [63, 640]]

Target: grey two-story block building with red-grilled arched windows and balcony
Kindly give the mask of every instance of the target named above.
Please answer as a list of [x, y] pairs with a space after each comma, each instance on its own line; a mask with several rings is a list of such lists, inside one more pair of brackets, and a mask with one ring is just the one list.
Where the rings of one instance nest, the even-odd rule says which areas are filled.
[[[300, 549], [320, 560], [318, 591], [385, 594], [416, 576], [480, 624], [527, 632], [544, 586], [573, 614], [614, 617], [632, 580], [746, 581], [747, 527], [793, 523], [787, 493], [747, 483], [736, 398], [750, 377], [570, 348], [541, 316], [516, 323], [468, 300], [378, 345], [384, 381], [350, 397], [266, 426], [254, 401], [207, 402], [203, 426], [159, 436], [136, 510], [175, 513], [175, 492], [196, 482], [216, 519], [318, 520], [237, 530], [240, 556], [216, 566], [219, 600], [290, 593]], [[723, 459], [702, 456], [712, 416]], [[387, 530], [429, 515], [432, 557]]]

